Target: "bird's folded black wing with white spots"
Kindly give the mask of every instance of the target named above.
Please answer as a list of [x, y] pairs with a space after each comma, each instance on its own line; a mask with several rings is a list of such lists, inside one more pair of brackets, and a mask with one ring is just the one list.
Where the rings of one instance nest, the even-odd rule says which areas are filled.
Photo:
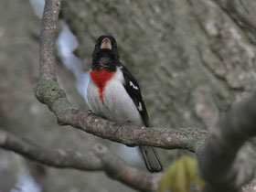
[[138, 82], [133, 78], [133, 75], [130, 73], [128, 69], [126, 69], [122, 63], [120, 64], [120, 68], [123, 71], [123, 78], [125, 80], [125, 84], [123, 85], [125, 90], [128, 92], [130, 97], [133, 99], [137, 110], [140, 112], [141, 117], [143, 119], [144, 125], [148, 126], [148, 115], [145, 109], [143, 96], [140, 90], [140, 86]]

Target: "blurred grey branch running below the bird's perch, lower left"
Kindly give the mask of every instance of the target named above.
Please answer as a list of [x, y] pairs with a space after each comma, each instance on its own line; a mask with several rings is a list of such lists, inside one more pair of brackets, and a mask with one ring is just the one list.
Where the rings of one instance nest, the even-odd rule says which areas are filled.
[[44, 165], [59, 168], [75, 168], [85, 171], [104, 171], [112, 179], [140, 191], [156, 191], [154, 176], [140, 172], [129, 165], [125, 165], [122, 159], [112, 155], [105, 146], [96, 144], [93, 151], [86, 154], [67, 150], [48, 150], [33, 144], [16, 135], [0, 130], [0, 147], [14, 151], [28, 159]]

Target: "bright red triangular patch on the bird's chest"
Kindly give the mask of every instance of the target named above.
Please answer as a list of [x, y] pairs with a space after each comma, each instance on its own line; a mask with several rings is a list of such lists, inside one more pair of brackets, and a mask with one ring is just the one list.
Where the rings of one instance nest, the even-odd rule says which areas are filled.
[[104, 88], [108, 80], [112, 79], [112, 76], [114, 75], [114, 73], [115, 72], [107, 71], [102, 68], [100, 70], [90, 71], [91, 80], [93, 80], [93, 82], [96, 84], [99, 91], [99, 97], [103, 104], [104, 104], [104, 98], [103, 98]]

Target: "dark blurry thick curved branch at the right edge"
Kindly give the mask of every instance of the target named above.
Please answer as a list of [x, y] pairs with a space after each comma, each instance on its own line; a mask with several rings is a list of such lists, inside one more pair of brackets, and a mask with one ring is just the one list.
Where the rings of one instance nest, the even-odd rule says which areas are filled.
[[256, 135], [255, 115], [256, 94], [253, 94], [215, 125], [198, 158], [201, 174], [212, 191], [240, 191], [240, 187], [254, 176], [252, 165], [246, 162], [234, 164], [234, 160], [241, 145]]

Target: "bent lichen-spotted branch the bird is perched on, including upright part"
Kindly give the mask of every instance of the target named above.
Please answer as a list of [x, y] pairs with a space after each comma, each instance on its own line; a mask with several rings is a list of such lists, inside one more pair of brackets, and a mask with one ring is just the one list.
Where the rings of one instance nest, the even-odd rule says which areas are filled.
[[48, 105], [59, 124], [71, 125], [87, 133], [127, 145], [152, 145], [165, 149], [187, 149], [198, 152], [207, 132], [196, 129], [147, 129], [112, 123], [96, 115], [75, 109], [55, 79], [54, 42], [60, 0], [48, 0], [43, 15], [40, 37], [40, 81], [37, 100]]

